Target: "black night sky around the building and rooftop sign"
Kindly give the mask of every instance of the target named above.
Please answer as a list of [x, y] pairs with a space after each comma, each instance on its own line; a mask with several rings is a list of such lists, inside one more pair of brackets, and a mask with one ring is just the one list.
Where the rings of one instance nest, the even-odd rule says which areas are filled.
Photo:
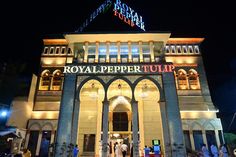
[[[0, 58], [27, 64], [24, 74], [38, 72], [42, 39], [74, 32], [103, 0], [7, 1], [1, 10]], [[203, 37], [203, 61], [214, 104], [225, 131], [236, 112], [235, 8], [230, 1], [123, 0], [143, 16], [146, 31], [171, 32], [171, 37]], [[127, 24], [99, 15], [85, 32], [133, 31]], [[236, 119], [234, 124], [236, 130]]]

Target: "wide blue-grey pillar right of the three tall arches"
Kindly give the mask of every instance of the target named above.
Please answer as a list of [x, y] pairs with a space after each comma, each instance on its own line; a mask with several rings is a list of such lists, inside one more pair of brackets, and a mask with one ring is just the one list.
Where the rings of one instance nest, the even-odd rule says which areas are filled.
[[172, 157], [185, 157], [186, 150], [174, 74], [166, 72], [162, 75]]

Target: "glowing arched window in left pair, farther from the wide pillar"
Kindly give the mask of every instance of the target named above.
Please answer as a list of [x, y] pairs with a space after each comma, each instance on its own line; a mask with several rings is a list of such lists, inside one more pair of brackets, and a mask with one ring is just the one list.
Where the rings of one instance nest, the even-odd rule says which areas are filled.
[[41, 73], [39, 90], [49, 90], [50, 86], [50, 72], [49, 70], [44, 70]]

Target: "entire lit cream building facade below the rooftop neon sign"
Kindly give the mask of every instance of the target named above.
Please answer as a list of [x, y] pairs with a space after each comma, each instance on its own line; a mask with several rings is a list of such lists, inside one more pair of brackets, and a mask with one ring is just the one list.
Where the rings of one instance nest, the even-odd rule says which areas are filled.
[[44, 39], [40, 73], [28, 98], [15, 99], [8, 123], [27, 129], [25, 147], [36, 156], [45, 138], [57, 141], [57, 154], [64, 142], [78, 144], [80, 156], [105, 156], [105, 144], [116, 141], [132, 144], [135, 156], [153, 139], [166, 156], [185, 156], [185, 148], [202, 143], [219, 146], [203, 40], [170, 33]]

